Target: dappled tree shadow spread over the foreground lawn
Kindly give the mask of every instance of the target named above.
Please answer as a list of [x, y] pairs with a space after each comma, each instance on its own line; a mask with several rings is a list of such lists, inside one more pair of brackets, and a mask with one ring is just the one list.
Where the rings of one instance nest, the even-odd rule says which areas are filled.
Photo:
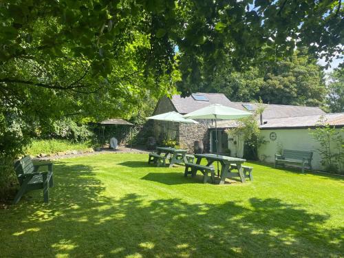
[[[54, 167], [50, 204], [34, 196], [0, 214], [3, 257], [331, 257], [343, 250], [343, 228], [322, 227], [327, 215], [277, 198], [251, 198], [249, 208], [130, 193], [109, 198], [91, 166]], [[171, 174], [149, 177], [186, 181]]]

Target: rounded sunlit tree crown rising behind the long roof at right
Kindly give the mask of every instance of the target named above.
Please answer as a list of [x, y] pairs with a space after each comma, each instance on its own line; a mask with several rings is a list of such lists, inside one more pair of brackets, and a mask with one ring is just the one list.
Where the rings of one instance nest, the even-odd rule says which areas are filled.
[[264, 67], [264, 83], [256, 96], [264, 103], [321, 106], [326, 88], [321, 67], [315, 60], [293, 56], [291, 60], [269, 63]]

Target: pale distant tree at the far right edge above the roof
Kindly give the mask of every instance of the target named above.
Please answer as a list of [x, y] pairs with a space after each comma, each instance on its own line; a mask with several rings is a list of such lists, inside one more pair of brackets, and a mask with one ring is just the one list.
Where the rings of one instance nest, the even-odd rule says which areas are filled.
[[335, 69], [327, 85], [327, 105], [332, 112], [344, 112], [344, 67]]

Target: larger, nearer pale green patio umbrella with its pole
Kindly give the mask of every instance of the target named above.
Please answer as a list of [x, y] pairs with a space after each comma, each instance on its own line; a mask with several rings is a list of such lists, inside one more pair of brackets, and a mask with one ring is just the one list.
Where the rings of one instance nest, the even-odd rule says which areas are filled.
[[[189, 114], [183, 116], [186, 119], [214, 119], [215, 120], [215, 142], [216, 142], [216, 153], [219, 151], [219, 143], [217, 140], [217, 119], [219, 120], [235, 120], [238, 118], [244, 118], [246, 116], [252, 116], [252, 113], [240, 110], [233, 109], [233, 107], [226, 107], [221, 104], [208, 105], [202, 109], [197, 109]], [[217, 166], [217, 174], [218, 166]]]

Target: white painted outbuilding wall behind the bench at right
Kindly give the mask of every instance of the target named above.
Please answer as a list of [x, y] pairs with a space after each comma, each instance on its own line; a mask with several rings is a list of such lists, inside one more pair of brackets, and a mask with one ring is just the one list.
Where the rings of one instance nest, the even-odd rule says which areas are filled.
[[[340, 131], [340, 129], [337, 130]], [[270, 133], [272, 131], [277, 134], [275, 141], [270, 140]], [[340, 133], [344, 137], [344, 133]], [[261, 130], [261, 136], [264, 136], [264, 139], [268, 140], [268, 142], [259, 147], [258, 157], [260, 160], [275, 163], [275, 153], [279, 149], [278, 144], [281, 144], [282, 149], [313, 151], [313, 169], [324, 170], [319, 153], [316, 151], [320, 147], [319, 143], [312, 138], [309, 129]]]

